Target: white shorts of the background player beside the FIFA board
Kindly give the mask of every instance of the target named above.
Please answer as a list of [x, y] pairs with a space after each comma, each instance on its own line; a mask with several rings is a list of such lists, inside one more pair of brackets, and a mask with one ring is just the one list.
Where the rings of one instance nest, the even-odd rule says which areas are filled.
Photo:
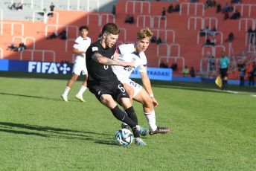
[[86, 68], [86, 58], [77, 56], [74, 60], [74, 66], [72, 73], [80, 75], [82, 72], [83, 75], [88, 74]]

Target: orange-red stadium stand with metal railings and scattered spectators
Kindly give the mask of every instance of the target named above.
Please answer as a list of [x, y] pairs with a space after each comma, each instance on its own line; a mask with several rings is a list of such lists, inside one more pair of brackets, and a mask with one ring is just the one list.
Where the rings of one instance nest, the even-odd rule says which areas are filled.
[[[152, 43], [146, 51], [147, 59], [150, 67], [159, 67], [160, 59], [168, 61], [169, 68], [173, 62], [178, 64], [178, 72], [182, 72], [182, 67], [188, 65], [188, 68], [193, 66], [195, 70], [199, 69], [205, 77], [214, 77], [217, 71], [208, 71], [208, 51], [211, 56], [215, 56], [216, 63], [220, 60], [220, 51], [225, 49], [226, 54], [231, 57], [232, 71], [234, 77], [237, 76], [237, 63], [250, 62], [255, 60], [255, 46], [249, 43], [247, 37], [247, 29], [251, 26], [255, 28], [255, 1], [242, 0], [241, 4], [235, 4], [236, 10], [243, 13], [240, 19], [227, 19], [223, 21], [223, 13], [216, 13], [216, 7], [203, 8], [202, 3], [205, 1], [199, 0], [200, 4], [190, 4], [188, 1], [107, 1], [99, 2], [99, 12], [97, 12], [97, 3], [90, 1], [85, 4], [78, 4], [78, 1], [53, 1], [56, 14], [54, 17], [34, 16], [33, 11], [42, 10], [43, 7], [48, 9], [52, 1], [45, 0], [24, 0], [24, 8], [22, 11], [9, 10], [7, 7], [11, 1], [1, 1], [0, 14], [1, 18], [1, 39], [0, 45], [3, 49], [4, 59], [20, 59], [20, 52], [7, 51], [7, 46], [11, 44], [13, 36], [22, 36], [21, 25], [6, 25], [4, 23], [22, 23], [24, 25], [24, 39], [33, 37], [33, 41], [29, 39], [25, 44], [29, 50], [34, 51], [33, 60], [42, 60], [41, 51], [54, 51], [56, 54], [55, 61], [61, 62], [68, 60], [73, 61], [74, 56], [71, 53], [71, 41], [63, 41], [61, 39], [45, 39], [45, 35], [51, 35], [62, 30], [67, 31], [67, 39], [75, 39], [77, 37], [77, 29], [66, 28], [67, 25], [74, 25], [78, 28], [80, 25], [89, 26], [89, 37], [92, 42], [98, 39], [100, 30], [106, 22], [115, 22], [121, 28], [121, 35], [117, 45], [123, 42], [135, 42], [135, 34], [145, 26], [150, 27], [156, 34], [157, 38], [162, 39], [162, 45]], [[15, 1], [14, 2], [18, 2]], [[222, 7], [225, 3], [230, 3], [230, 0], [217, 0]], [[68, 5], [68, 3], [70, 3]], [[161, 10], [163, 7], [167, 9], [170, 4], [175, 6], [176, 3], [182, 4], [182, 10], [179, 12], [166, 13], [164, 19], [161, 18]], [[31, 5], [32, 4], [32, 5]], [[116, 14], [112, 15], [112, 5], [116, 4]], [[245, 4], [245, 5], [243, 5]], [[33, 7], [32, 7], [33, 6]], [[89, 10], [88, 10], [89, 9]], [[242, 12], [243, 10], [243, 12]], [[248, 11], [248, 13], [247, 13]], [[232, 13], [232, 12], [231, 12]], [[127, 14], [134, 16], [133, 24], [125, 23], [124, 20]], [[147, 17], [145, 17], [147, 16]], [[30, 20], [30, 21], [26, 21]], [[34, 22], [33, 22], [33, 21]], [[193, 21], [194, 20], [194, 21]], [[55, 27], [48, 27], [54, 25]], [[214, 48], [202, 48], [205, 44], [205, 36], [200, 35], [200, 30], [206, 27], [211, 30], [214, 26], [217, 28], [215, 37], [217, 45]], [[224, 40], [228, 38], [228, 34], [233, 31], [234, 40], [229, 43]], [[212, 37], [212, 35], [210, 35]], [[248, 38], [248, 39], [247, 39]], [[36, 42], [36, 43], [35, 43]], [[222, 43], [223, 42], [223, 43]], [[18, 42], [17, 42], [18, 43]], [[179, 45], [179, 48], [176, 46]], [[68, 44], [68, 45], [67, 45]], [[36, 45], [36, 47], [35, 47]], [[160, 48], [161, 46], [161, 48]], [[166, 48], [164, 48], [164, 46]], [[39, 52], [40, 51], [40, 52]], [[53, 60], [52, 53], [45, 53], [44, 59]], [[27, 57], [28, 56], [28, 57]], [[248, 57], [247, 57], [248, 56]], [[31, 59], [31, 51], [22, 54], [23, 59]], [[179, 59], [179, 57], [182, 57]], [[246, 59], [245, 59], [246, 57]], [[217, 67], [218, 65], [216, 65]], [[216, 68], [217, 69], [217, 68]], [[179, 74], [178, 74], [179, 75]]]

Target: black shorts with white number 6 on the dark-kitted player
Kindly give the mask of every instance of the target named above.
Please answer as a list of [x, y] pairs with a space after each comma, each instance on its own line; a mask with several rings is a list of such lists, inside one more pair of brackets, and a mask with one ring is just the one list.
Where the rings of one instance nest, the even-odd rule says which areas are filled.
[[118, 103], [122, 97], [129, 98], [129, 94], [125, 90], [124, 85], [119, 80], [109, 85], [90, 86], [89, 91], [91, 91], [92, 94], [95, 94], [97, 100], [99, 101], [102, 94], [110, 94]]

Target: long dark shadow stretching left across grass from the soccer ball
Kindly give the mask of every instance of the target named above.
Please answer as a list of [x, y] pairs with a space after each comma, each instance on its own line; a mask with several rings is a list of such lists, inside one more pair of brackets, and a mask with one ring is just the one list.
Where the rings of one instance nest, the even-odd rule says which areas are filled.
[[93, 141], [95, 143], [104, 143], [103, 141], [105, 140], [104, 144], [115, 144], [107, 143], [106, 140], [112, 139], [112, 135], [108, 135], [105, 133], [81, 132], [72, 129], [60, 129], [48, 126], [35, 126], [21, 123], [0, 122], [0, 132], [8, 132], [21, 135], [36, 135], [45, 138], [77, 139], [82, 141]]

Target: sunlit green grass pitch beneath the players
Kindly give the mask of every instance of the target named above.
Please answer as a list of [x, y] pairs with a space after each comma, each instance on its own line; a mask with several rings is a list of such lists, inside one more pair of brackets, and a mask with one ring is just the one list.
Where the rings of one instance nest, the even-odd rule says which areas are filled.
[[[147, 146], [115, 144], [121, 121], [71, 75], [0, 72], [0, 170], [256, 170], [255, 87], [152, 81], [156, 122]], [[141, 83], [140, 80], [136, 80]], [[140, 103], [139, 124], [147, 128]]]

